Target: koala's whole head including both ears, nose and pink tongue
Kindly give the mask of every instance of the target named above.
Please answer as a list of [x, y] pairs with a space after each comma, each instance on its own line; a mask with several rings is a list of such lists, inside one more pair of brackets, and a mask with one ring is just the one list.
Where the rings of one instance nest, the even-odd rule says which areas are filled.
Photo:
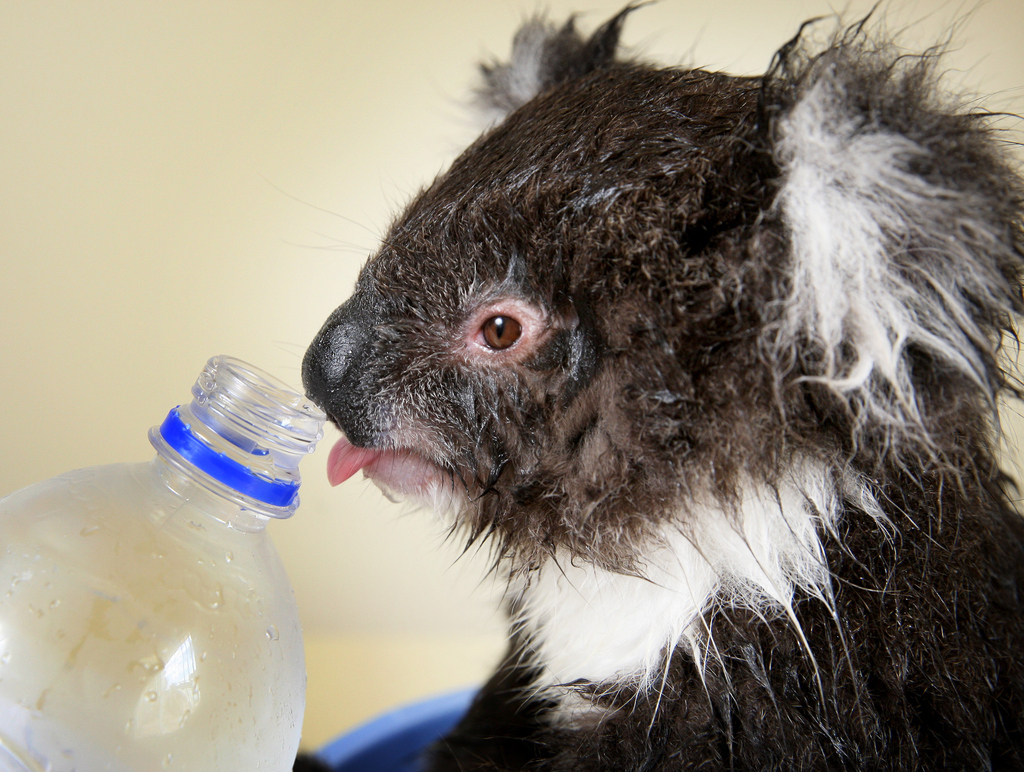
[[535, 20], [484, 68], [500, 120], [306, 354], [333, 481], [449, 508], [523, 567], [622, 570], [802, 458], [981, 463], [1022, 200], [981, 119], [859, 32], [763, 78], [622, 60], [630, 10]]

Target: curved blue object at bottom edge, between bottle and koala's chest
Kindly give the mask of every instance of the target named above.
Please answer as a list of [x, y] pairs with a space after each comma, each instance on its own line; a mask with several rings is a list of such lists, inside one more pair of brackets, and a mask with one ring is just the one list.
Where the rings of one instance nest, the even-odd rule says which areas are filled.
[[397, 707], [317, 752], [334, 772], [420, 772], [420, 755], [461, 719], [476, 689]]

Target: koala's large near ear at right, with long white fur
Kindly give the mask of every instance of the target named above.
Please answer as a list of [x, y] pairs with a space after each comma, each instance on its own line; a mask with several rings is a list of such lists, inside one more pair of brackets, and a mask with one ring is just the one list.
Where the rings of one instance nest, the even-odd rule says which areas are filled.
[[810, 347], [812, 378], [861, 424], [927, 441], [914, 361], [986, 399], [1002, 385], [1024, 199], [987, 116], [938, 88], [937, 54], [865, 37], [854, 28], [818, 53], [798, 39], [766, 76], [792, 253], [773, 343], [791, 362]]

